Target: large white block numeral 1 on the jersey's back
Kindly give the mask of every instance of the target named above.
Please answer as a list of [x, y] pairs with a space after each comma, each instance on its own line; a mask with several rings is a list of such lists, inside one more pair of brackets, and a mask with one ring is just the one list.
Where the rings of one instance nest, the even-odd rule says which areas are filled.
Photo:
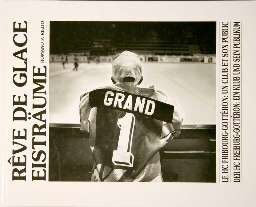
[[120, 128], [117, 150], [113, 151], [112, 162], [115, 165], [132, 167], [133, 154], [132, 136], [135, 125], [135, 117], [132, 113], [126, 113], [123, 118], [117, 120], [117, 126]]

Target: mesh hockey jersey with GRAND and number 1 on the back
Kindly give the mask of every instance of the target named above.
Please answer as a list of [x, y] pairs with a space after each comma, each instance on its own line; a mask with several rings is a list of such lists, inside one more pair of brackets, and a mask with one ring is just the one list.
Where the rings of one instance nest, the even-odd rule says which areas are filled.
[[181, 111], [164, 93], [116, 83], [80, 97], [90, 133], [92, 181], [162, 181], [159, 150], [179, 136]]

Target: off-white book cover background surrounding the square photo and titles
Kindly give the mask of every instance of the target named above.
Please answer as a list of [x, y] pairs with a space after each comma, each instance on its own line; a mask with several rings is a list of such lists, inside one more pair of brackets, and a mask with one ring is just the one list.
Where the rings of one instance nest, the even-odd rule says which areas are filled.
[[[6, 206], [254, 206], [255, 205], [255, 105], [256, 105], [256, 2], [67, 2], [6, 1], [6, 117], [4, 196]], [[3, 14], [2, 14], [3, 15]], [[12, 181], [12, 95], [27, 94], [27, 112], [32, 110], [32, 66], [40, 66], [40, 21], [47, 21], [47, 66], [49, 72], [49, 21], [242, 21], [242, 153], [243, 183], [91, 183], [31, 181], [31, 123], [26, 122], [27, 181]], [[28, 21], [28, 83], [22, 88], [12, 82], [12, 67], [21, 60], [12, 56], [18, 47], [12, 42], [13, 22]], [[218, 41], [217, 41], [218, 47]], [[217, 53], [218, 48], [217, 48]], [[219, 61], [217, 57], [217, 62]], [[17, 63], [17, 65], [15, 65]], [[1, 69], [3, 70], [3, 69]], [[216, 77], [218, 76], [218, 71]], [[49, 74], [49, 73], [48, 73]], [[218, 84], [218, 80], [217, 80]], [[23, 91], [23, 90], [26, 91]], [[217, 87], [218, 89], [218, 87]], [[49, 78], [47, 80], [49, 92]], [[2, 89], [1, 89], [2, 92]], [[218, 91], [216, 92], [218, 96]], [[48, 94], [49, 95], [49, 94]], [[218, 103], [218, 102], [217, 102]], [[29, 108], [31, 107], [31, 108]], [[49, 105], [47, 106], [49, 116]], [[218, 107], [218, 106], [216, 106]], [[1, 109], [2, 110], [2, 109]], [[217, 108], [217, 113], [218, 113]], [[35, 111], [34, 111], [35, 112]], [[2, 113], [2, 111], [1, 111]], [[218, 114], [216, 115], [218, 121]], [[47, 118], [47, 126], [48, 126]], [[218, 123], [217, 123], [218, 127]], [[22, 126], [23, 128], [23, 126]], [[218, 130], [218, 128], [217, 128]], [[48, 134], [48, 130], [47, 130]], [[218, 133], [216, 133], [218, 135]], [[2, 135], [2, 134], [1, 134]], [[1, 138], [2, 142], [4, 141]], [[48, 136], [47, 136], [48, 139]], [[47, 141], [46, 141], [47, 143]], [[218, 144], [218, 137], [217, 143]], [[48, 155], [48, 145], [46, 146]], [[30, 151], [31, 150], [31, 151]], [[218, 149], [217, 149], [218, 153]], [[217, 159], [218, 162], [218, 159]], [[47, 166], [48, 173], [48, 166]], [[218, 163], [217, 163], [218, 173]], [[48, 176], [46, 177], [48, 179]], [[217, 174], [218, 181], [218, 174]], [[3, 188], [2, 188], [3, 189]]]

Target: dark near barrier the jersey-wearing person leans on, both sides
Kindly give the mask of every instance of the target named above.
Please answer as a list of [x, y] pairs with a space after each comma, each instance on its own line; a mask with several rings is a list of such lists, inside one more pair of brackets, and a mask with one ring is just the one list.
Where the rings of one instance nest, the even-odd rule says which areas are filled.
[[[160, 150], [164, 182], [216, 182], [216, 125], [181, 125]], [[90, 181], [89, 133], [80, 124], [49, 124], [49, 181]]]

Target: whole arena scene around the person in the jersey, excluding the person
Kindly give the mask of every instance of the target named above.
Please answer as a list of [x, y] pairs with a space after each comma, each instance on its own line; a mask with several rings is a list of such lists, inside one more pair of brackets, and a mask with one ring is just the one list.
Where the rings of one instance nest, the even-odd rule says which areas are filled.
[[79, 97], [113, 85], [113, 57], [125, 50], [140, 56], [140, 87], [184, 113], [180, 136], [160, 151], [164, 182], [216, 182], [216, 22], [89, 21], [50, 22], [49, 181], [91, 180]]

